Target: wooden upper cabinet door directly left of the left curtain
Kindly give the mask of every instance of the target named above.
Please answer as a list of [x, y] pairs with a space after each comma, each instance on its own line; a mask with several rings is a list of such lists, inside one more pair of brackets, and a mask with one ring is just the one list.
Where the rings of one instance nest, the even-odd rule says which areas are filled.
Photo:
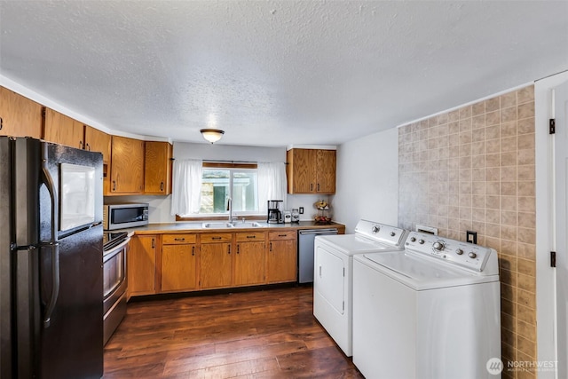
[[171, 193], [172, 147], [168, 142], [146, 142], [144, 192]]

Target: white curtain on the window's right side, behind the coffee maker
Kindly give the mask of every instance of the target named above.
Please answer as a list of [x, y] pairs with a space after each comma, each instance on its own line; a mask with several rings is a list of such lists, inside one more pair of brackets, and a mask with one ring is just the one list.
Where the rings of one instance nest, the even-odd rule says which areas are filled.
[[282, 162], [257, 164], [258, 175], [258, 210], [268, 211], [269, 200], [282, 200], [286, 209], [286, 166]]

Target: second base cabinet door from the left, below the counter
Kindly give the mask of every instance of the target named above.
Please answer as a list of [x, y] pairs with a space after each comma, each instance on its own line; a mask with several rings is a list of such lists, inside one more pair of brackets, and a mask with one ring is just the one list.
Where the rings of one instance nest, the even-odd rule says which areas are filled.
[[162, 246], [162, 291], [197, 288], [197, 245]]

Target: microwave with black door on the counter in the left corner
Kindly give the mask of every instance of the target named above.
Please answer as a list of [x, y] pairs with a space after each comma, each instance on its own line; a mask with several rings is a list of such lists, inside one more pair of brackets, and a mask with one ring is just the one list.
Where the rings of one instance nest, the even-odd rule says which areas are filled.
[[103, 228], [124, 229], [148, 225], [148, 203], [105, 204]]

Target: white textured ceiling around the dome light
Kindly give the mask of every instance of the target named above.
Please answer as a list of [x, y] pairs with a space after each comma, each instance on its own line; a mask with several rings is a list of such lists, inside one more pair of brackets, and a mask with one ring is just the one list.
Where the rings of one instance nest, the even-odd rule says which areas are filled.
[[567, 1], [0, 1], [0, 75], [113, 130], [335, 145], [568, 69]]

